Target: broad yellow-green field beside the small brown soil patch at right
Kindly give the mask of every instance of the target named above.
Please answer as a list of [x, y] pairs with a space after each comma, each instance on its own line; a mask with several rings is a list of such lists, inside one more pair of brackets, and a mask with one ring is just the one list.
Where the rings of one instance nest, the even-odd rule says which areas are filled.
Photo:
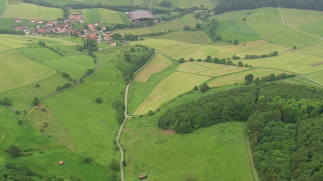
[[[239, 60], [240, 61], [240, 60]], [[323, 58], [305, 55], [299, 53], [283, 53], [278, 56], [262, 58], [262, 59], [248, 59], [243, 60], [243, 63], [252, 65], [253, 67], [260, 68], [273, 68], [283, 70], [287, 72], [307, 74], [321, 70], [321, 66], [310, 66], [310, 64], [322, 62]], [[238, 63], [237, 60], [233, 60], [234, 63]]]

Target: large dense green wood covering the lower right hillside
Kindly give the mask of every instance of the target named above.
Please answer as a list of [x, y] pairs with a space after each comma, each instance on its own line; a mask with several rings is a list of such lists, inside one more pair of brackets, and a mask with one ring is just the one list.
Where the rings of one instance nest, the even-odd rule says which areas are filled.
[[323, 90], [295, 84], [244, 86], [168, 110], [163, 129], [189, 133], [247, 121], [260, 180], [323, 180]]

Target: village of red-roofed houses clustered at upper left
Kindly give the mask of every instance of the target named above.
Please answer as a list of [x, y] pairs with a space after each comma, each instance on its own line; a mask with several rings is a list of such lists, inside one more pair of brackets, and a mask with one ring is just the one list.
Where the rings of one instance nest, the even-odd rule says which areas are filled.
[[[34, 36], [56, 35], [56, 36], [75, 36], [83, 37], [84, 39], [92, 39], [97, 42], [107, 42], [109, 45], [116, 45], [117, 41], [111, 40], [111, 31], [106, 31], [105, 26], [100, 26], [102, 23], [94, 22], [93, 24], [85, 24], [85, 17], [80, 13], [72, 13], [66, 21], [49, 21], [31, 19], [28, 25], [34, 25], [31, 30], [28, 26], [18, 26], [14, 30], [24, 31], [25, 34]], [[14, 20], [16, 23], [22, 22], [20, 19]], [[76, 28], [77, 24], [84, 24], [80, 28]], [[123, 36], [124, 38], [124, 36]], [[120, 41], [128, 43], [127, 41]]]

